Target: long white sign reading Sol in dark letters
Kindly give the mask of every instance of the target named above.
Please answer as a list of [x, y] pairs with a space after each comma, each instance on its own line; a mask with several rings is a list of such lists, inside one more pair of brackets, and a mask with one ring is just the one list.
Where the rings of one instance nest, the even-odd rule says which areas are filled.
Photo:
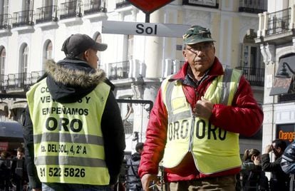
[[190, 25], [103, 21], [102, 33], [182, 37]]

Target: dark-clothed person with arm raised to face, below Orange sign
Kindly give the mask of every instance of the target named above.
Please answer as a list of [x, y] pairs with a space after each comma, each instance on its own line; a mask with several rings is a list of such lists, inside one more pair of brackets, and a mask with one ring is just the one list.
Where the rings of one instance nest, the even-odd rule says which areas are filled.
[[[284, 140], [273, 140], [271, 145], [267, 145], [262, 154], [262, 169], [271, 172], [269, 187], [271, 191], [288, 191], [290, 177], [281, 169], [281, 156], [286, 149]], [[270, 162], [269, 153], [274, 153], [274, 162]]]

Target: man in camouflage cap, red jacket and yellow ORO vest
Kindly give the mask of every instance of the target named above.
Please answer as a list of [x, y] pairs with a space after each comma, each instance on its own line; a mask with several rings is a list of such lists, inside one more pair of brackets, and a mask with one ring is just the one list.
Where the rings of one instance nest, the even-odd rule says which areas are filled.
[[185, 65], [161, 85], [139, 167], [144, 190], [157, 182], [159, 163], [170, 190], [235, 190], [239, 134], [254, 135], [263, 113], [251, 86], [215, 57], [209, 29], [183, 36]]

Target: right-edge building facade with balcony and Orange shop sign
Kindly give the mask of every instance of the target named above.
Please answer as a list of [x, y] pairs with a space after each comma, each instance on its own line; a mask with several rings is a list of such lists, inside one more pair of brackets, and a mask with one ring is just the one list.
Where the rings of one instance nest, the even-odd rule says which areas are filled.
[[264, 124], [262, 148], [280, 138], [287, 143], [295, 135], [295, 2], [269, 1], [259, 14], [255, 41], [265, 63]]

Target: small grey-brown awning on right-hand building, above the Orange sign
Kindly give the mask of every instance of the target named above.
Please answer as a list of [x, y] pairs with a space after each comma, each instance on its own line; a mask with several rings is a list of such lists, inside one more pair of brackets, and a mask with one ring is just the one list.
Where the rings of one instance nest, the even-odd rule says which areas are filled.
[[274, 78], [274, 85], [271, 88], [269, 96], [289, 93], [292, 83], [294, 83], [294, 81], [292, 82], [292, 78]]

